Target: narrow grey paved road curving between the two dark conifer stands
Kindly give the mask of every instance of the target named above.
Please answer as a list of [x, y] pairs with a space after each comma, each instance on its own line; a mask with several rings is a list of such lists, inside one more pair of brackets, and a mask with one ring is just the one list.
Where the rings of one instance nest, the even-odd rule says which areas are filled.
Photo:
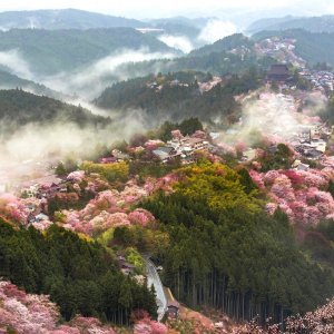
[[167, 298], [164, 292], [164, 287], [160, 281], [160, 276], [154, 265], [154, 263], [146, 258], [146, 271], [147, 271], [147, 286], [154, 285], [157, 294], [158, 305], [158, 321], [161, 321], [167, 310]]

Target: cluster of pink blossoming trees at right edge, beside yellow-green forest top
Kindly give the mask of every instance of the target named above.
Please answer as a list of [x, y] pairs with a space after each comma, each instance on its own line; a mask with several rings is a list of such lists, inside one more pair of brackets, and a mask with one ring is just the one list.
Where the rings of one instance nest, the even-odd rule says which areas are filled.
[[316, 225], [334, 214], [334, 199], [324, 189], [333, 180], [333, 169], [269, 170], [249, 173], [257, 186], [267, 191], [271, 203], [266, 210], [273, 214], [279, 207], [294, 223]]

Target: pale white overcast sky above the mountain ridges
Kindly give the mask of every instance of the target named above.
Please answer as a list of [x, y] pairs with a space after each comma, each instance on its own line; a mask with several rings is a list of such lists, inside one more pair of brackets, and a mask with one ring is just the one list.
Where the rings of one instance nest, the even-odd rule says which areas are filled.
[[177, 14], [225, 17], [246, 11], [269, 14], [334, 13], [334, 0], [0, 0], [0, 11], [77, 8], [131, 18]]

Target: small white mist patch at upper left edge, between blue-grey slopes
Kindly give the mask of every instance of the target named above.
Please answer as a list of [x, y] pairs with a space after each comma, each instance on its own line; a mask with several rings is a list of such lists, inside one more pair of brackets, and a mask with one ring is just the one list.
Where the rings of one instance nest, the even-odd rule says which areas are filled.
[[0, 65], [7, 67], [12, 73], [30, 79], [32, 73], [29, 63], [21, 57], [18, 50], [0, 51]]

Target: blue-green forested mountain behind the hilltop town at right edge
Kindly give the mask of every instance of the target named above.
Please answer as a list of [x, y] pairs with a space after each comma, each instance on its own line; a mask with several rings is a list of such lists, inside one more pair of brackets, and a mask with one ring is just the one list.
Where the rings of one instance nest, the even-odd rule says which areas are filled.
[[295, 39], [294, 52], [310, 65], [328, 62], [334, 65], [334, 32], [310, 32], [303, 29], [284, 31], [262, 31], [253, 36], [255, 40], [283, 37]]

